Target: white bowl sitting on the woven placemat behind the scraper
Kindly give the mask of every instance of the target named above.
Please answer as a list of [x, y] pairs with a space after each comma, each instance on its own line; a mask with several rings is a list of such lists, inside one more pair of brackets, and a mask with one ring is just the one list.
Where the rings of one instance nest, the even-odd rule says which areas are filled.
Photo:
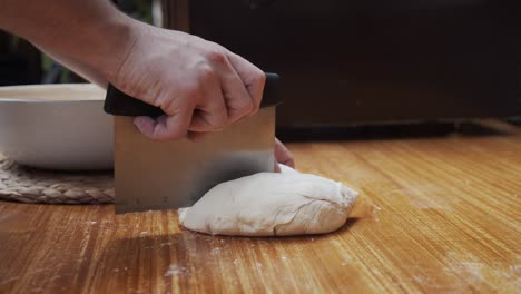
[[47, 169], [111, 169], [111, 116], [90, 84], [0, 87], [0, 154]]

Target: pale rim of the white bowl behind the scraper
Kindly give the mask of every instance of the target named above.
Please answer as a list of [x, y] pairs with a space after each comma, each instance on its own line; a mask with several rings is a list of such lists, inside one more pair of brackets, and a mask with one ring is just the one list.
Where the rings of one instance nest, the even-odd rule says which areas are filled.
[[13, 98], [2, 97], [2, 90], [38, 90], [38, 89], [66, 89], [66, 88], [78, 88], [78, 89], [98, 89], [105, 91], [104, 88], [95, 84], [78, 82], [78, 84], [33, 84], [33, 85], [16, 85], [16, 86], [0, 86], [0, 102], [20, 102], [20, 104], [57, 104], [57, 102], [99, 102], [105, 100], [105, 96], [96, 98], [78, 98], [78, 99], [56, 99], [56, 98]]

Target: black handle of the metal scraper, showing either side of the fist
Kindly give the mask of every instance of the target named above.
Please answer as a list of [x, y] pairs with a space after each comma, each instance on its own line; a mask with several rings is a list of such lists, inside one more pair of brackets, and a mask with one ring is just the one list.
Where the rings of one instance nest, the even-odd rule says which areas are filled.
[[[260, 107], [276, 106], [283, 102], [281, 94], [281, 78], [277, 74], [266, 74], [266, 85], [264, 86], [263, 100]], [[158, 117], [164, 115], [159, 107], [146, 104], [118, 90], [112, 85], [108, 85], [107, 97], [105, 98], [105, 112], [115, 116], [149, 116]]]

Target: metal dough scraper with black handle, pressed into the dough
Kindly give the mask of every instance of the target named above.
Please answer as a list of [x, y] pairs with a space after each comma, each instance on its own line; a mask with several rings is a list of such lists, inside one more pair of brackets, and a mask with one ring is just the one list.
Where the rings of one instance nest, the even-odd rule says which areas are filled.
[[116, 213], [190, 206], [219, 183], [272, 171], [279, 102], [279, 78], [266, 74], [256, 115], [198, 143], [187, 138], [157, 141], [145, 137], [132, 121], [135, 116], [164, 112], [109, 85], [105, 110], [115, 116]]

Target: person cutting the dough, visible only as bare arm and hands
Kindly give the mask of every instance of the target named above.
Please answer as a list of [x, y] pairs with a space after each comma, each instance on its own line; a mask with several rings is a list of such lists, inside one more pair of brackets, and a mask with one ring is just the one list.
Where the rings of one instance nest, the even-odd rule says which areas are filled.
[[[260, 69], [217, 43], [136, 21], [108, 0], [0, 0], [0, 28], [98, 85], [161, 107], [166, 116], [135, 119], [153, 139], [218, 131], [260, 105]], [[281, 146], [277, 158], [292, 165]]]

